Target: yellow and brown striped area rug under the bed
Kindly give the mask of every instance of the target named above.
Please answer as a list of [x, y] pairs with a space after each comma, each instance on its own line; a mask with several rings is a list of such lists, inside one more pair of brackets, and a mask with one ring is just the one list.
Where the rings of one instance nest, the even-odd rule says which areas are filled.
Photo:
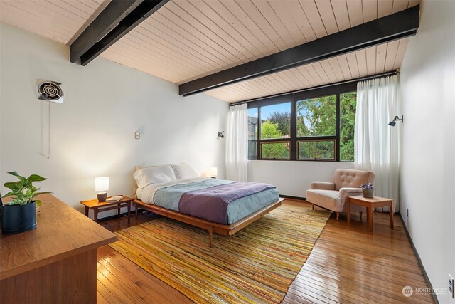
[[280, 303], [328, 212], [282, 205], [232, 236], [160, 218], [117, 231], [110, 244], [196, 303]]

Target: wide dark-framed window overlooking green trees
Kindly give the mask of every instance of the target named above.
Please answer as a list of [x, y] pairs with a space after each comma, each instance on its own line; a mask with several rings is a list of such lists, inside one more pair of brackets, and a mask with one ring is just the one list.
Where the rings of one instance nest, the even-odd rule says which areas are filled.
[[352, 162], [356, 85], [333, 85], [248, 103], [249, 159]]

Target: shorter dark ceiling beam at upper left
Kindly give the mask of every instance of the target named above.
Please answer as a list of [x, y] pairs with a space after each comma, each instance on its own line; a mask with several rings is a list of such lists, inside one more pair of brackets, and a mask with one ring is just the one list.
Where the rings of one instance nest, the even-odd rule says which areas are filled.
[[70, 46], [70, 61], [87, 65], [169, 0], [112, 0]]

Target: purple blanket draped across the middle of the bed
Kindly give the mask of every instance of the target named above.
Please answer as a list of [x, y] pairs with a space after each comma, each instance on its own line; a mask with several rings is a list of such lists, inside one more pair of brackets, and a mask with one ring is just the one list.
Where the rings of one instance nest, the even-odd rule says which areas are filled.
[[183, 214], [228, 224], [228, 205], [232, 201], [272, 188], [274, 186], [270, 184], [233, 182], [189, 191], [181, 196], [178, 210]]

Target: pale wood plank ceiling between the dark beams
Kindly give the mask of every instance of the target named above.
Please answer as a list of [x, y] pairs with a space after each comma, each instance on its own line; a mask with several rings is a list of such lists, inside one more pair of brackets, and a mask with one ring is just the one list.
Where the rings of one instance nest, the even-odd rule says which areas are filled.
[[[0, 0], [0, 21], [70, 45], [109, 0]], [[419, 0], [171, 0], [102, 53], [186, 83], [419, 4]], [[228, 102], [400, 68], [407, 41], [384, 43], [205, 94]]]

